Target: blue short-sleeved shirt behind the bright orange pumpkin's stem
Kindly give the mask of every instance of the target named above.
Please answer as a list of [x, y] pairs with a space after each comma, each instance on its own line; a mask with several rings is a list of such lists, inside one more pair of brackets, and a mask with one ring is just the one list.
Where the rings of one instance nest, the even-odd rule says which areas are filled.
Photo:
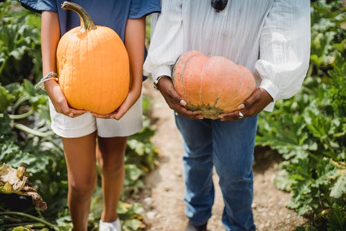
[[[64, 0], [20, 0], [21, 5], [35, 12], [52, 11], [59, 15], [60, 36], [76, 26], [80, 19], [76, 12], [62, 10]], [[152, 12], [160, 12], [160, 0], [76, 0], [90, 15], [95, 25], [112, 28], [124, 41], [127, 19], [138, 19]]]

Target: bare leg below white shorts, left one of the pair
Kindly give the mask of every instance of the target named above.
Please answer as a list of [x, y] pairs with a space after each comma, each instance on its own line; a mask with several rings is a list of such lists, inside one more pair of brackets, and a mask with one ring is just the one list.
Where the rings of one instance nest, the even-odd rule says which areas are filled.
[[79, 138], [62, 138], [69, 182], [69, 211], [73, 230], [86, 231], [91, 196], [97, 181], [95, 132]]

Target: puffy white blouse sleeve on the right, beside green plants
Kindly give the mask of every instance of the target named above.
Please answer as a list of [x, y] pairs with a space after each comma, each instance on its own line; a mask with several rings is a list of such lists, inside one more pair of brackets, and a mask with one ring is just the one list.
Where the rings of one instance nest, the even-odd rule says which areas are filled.
[[296, 94], [309, 68], [310, 2], [307, 0], [274, 1], [260, 35], [260, 59], [255, 75], [260, 87], [274, 102], [264, 110], [272, 111], [275, 101]]

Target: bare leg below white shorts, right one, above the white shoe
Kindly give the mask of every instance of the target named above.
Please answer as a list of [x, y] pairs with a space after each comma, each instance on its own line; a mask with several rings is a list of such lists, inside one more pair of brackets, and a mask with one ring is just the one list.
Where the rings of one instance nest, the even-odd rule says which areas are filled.
[[97, 158], [102, 173], [103, 212], [101, 220], [116, 221], [116, 208], [124, 184], [127, 137], [98, 137]]

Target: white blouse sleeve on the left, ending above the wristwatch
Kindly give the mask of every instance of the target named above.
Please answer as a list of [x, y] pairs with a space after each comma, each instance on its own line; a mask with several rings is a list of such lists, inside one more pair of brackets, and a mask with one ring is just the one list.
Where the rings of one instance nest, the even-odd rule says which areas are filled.
[[155, 81], [159, 76], [172, 77], [172, 65], [183, 53], [181, 1], [162, 1], [157, 22], [152, 22], [152, 38], [143, 72]]

